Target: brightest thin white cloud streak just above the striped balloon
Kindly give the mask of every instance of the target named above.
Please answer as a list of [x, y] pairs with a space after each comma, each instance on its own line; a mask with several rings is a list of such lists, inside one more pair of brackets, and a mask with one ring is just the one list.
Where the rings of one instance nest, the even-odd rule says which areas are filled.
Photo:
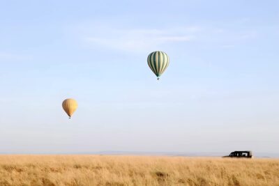
[[[142, 52], [158, 48], [170, 42], [189, 42], [195, 40], [198, 27], [179, 29], [103, 29], [92, 31], [84, 41], [90, 45], [119, 49], [128, 52]], [[110, 33], [108, 33], [108, 31]]]

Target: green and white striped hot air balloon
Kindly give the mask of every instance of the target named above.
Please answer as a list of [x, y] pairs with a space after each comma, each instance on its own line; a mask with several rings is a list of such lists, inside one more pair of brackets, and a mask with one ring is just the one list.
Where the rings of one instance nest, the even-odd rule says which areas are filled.
[[147, 57], [147, 63], [159, 80], [160, 75], [165, 72], [167, 66], [169, 65], [169, 56], [167, 56], [165, 52], [161, 51], [152, 52]]

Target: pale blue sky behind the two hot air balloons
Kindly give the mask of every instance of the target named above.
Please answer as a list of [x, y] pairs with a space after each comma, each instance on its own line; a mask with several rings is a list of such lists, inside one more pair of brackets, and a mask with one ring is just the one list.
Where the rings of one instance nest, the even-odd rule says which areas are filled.
[[279, 153], [278, 7], [0, 1], [0, 153]]

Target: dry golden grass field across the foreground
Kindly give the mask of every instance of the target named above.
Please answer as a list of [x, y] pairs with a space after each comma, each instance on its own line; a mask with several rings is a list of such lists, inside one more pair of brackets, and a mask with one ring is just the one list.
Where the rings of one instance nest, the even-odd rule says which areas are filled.
[[279, 160], [0, 155], [0, 185], [279, 185]]

